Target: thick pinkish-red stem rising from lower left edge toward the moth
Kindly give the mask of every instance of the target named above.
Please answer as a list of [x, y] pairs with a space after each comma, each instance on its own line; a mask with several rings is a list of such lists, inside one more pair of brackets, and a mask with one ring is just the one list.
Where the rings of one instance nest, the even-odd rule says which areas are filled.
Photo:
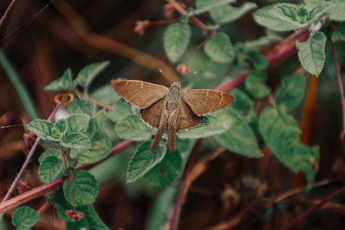
[[[105, 160], [108, 160], [113, 155], [120, 153], [124, 149], [128, 148], [129, 146], [132, 146], [134, 142], [130, 142], [128, 140], [121, 142], [117, 144], [116, 146], [112, 147], [112, 150], [108, 157], [105, 159], [96, 162], [95, 164], [86, 164], [83, 166], [80, 166], [76, 171], [81, 170], [88, 170], [92, 167], [100, 164], [101, 162], [104, 162]], [[59, 186], [63, 184], [63, 182], [68, 178], [59, 178], [57, 180], [54, 180], [53, 182], [50, 182], [48, 184], [43, 184], [41, 186], [38, 186], [37, 188], [34, 188], [30, 191], [27, 191], [26, 193], [22, 193], [21, 195], [17, 195], [15, 198], [12, 198], [10, 200], [7, 200], [6, 202], [0, 203], [0, 213], [3, 211], [7, 211], [8, 209], [14, 209], [15, 207], [18, 207], [21, 204], [24, 204], [26, 202], [29, 202], [30, 200], [34, 200], [35, 198], [40, 197], [44, 193], [48, 193], [49, 191], [52, 191], [54, 189], [57, 189]]]

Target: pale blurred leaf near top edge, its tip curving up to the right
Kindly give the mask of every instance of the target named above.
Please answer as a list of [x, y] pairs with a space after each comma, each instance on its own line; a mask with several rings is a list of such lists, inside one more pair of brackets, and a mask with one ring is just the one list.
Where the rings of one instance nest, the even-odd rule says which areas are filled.
[[244, 3], [243, 6], [235, 8], [230, 5], [217, 6], [210, 10], [210, 17], [220, 24], [236, 21], [246, 14], [246, 12], [257, 8], [257, 4], [253, 2]]

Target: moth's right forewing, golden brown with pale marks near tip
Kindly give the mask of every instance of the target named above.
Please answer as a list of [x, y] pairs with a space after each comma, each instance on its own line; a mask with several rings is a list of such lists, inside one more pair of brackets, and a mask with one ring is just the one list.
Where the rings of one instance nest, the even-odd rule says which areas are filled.
[[183, 99], [196, 115], [201, 116], [226, 108], [234, 97], [219, 90], [186, 89], [183, 90]]

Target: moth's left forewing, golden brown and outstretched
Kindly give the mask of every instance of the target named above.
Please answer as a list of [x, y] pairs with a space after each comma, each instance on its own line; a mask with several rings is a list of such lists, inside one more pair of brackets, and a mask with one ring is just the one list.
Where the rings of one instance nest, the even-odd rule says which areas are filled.
[[138, 80], [114, 79], [111, 84], [121, 97], [139, 108], [150, 106], [168, 93], [166, 86]]

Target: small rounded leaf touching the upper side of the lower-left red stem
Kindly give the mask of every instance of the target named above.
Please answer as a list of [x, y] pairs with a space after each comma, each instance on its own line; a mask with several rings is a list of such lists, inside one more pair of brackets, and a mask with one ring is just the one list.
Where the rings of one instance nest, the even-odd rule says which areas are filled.
[[57, 179], [63, 172], [63, 162], [56, 156], [44, 157], [39, 164], [39, 178], [45, 184]]

